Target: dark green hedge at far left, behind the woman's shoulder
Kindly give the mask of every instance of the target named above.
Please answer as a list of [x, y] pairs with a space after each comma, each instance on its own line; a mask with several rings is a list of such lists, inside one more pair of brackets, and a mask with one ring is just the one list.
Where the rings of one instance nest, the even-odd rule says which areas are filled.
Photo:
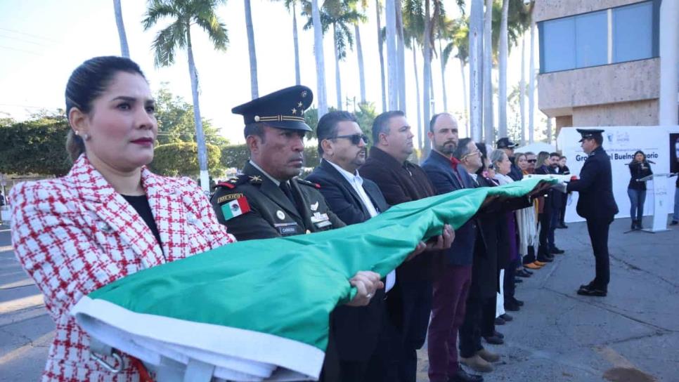
[[61, 176], [71, 162], [65, 149], [70, 127], [63, 111], [34, 114], [28, 121], [0, 123], [0, 173]]

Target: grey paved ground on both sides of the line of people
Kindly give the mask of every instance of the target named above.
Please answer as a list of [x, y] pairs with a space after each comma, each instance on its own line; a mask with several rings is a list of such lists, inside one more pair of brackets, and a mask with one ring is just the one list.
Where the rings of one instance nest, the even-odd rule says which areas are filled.
[[[575, 294], [593, 278], [585, 225], [557, 230], [567, 253], [519, 285], [526, 305], [498, 327], [506, 343], [489, 348], [503, 359], [486, 381], [679, 381], [679, 232], [623, 234], [628, 227], [612, 225], [606, 298]], [[0, 227], [0, 382], [36, 381], [52, 331]], [[420, 352], [418, 382], [427, 381], [426, 358]]]

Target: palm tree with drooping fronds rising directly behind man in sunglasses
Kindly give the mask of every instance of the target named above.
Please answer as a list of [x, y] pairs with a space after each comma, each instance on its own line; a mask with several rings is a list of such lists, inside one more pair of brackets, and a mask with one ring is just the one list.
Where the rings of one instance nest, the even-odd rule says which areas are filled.
[[[308, 0], [304, 0], [308, 3]], [[337, 91], [337, 110], [342, 110], [342, 78], [340, 62], [347, 57], [347, 45], [354, 48], [354, 36], [349, 25], [366, 20], [366, 16], [356, 9], [357, 0], [325, 0], [321, 8], [321, 26], [323, 33], [332, 26], [332, 42], [335, 46], [335, 90]], [[305, 7], [305, 10], [308, 7]], [[311, 28], [312, 20], [308, 20], [304, 29]]]

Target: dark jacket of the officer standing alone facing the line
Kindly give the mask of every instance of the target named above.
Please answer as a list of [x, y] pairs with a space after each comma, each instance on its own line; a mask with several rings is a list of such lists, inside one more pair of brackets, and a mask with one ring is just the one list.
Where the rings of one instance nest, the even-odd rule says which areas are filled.
[[607, 223], [613, 221], [618, 205], [613, 197], [611, 159], [603, 147], [591, 152], [580, 170], [580, 178], [568, 183], [567, 190], [580, 192], [578, 215]]

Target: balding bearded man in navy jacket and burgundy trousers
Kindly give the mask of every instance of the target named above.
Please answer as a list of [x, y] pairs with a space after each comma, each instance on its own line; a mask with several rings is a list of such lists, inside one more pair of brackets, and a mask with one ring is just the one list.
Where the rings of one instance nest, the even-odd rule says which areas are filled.
[[[474, 181], [453, 157], [458, 147], [458, 122], [448, 113], [436, 114], [429, 123], [429, 140], [433, 150], [422, 164], [437, 194], [474, 188]], [[477, 239], [477, 221], [467, 220], [457, 232], [457, 239], [444, 253], [446, 263], [434, 280], [432, 318], [427, 333], [429, 381], [483, 381], [467, 374], [458, 361], [458, 329], [465, 320], [467, 294], [472, 283], [472, 258]], [[495, 318], [495, 317], [493, 317]], [[481, 350], [487, 355], [486, 350]]]

